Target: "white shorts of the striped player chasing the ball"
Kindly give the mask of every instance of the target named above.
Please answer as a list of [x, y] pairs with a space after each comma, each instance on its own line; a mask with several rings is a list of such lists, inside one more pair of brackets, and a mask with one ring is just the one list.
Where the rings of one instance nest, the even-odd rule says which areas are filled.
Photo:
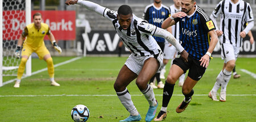
[[[134, 53], [131, 53], [129, 58], [127, 58], [125, 65], [134, 73], [136, 73], [137, 75], [139, 75], [139, 72], [141, 71], [144, 62], [150, 58], [150, 57], [154, 57], [153, 54], [149, 55], [149, 56], [135, 56]], [[162, 66], [163, 64], [163, 52], [160, 51], [157, 60], [159, 61], [159, 68]]]

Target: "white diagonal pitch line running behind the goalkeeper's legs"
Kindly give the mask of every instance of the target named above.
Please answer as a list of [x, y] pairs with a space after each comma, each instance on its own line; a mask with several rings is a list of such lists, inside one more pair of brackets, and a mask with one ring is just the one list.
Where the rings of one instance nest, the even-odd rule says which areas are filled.
[[[72, 58], [71, 60], [64, 61], [64, 62], [60, 62], [59, 64], [54, 65], [54, 68], [56, 68], [57, 66], [61, 66], [61, 65], [64, 65], [64, 64], [68, 64], [69, 62], [73, 62], [73, 61], [79, 60], [80, 58], [82, 58], [82, 57], [75, 57], [75, 58]], [[46, 71], [46, 70], [47, 70], [47, 68], [37, 70], [37, 71], [31, 73], [31, 76], [34, 75], [34, 74], [41, 73], [41, 72]], [[27, 78], [27, 77], [30, 77], [30, 76], [23, 76], [22, 79], [23, 79], [23, 78]], [[3, 82], [3, 86], [5, 86], [5, 85], [7, 85], [7, 84], [9, 84], [9, 83], [11, 83], [11, 82], [14, 82], [14, 81], [16, 81], [16, 78], [15, 78], [15, 79], [11, 79], [11, 80], [6, 81], [6, 82]], [[1, 86], [0, 86], [0, 87], [1, 87]]]

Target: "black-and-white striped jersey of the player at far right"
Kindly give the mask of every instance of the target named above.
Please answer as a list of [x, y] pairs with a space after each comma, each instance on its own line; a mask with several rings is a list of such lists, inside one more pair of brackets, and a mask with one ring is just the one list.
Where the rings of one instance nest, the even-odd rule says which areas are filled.
[[237, 3], [224, 0], [218, 3], [212, 15], [214, 18], [221, 15], [220, 30], [223, 31], [223, 35], [219, 38], [220, 43], [241, 47], [240, 32], [243, 31], [243, 24], [254, 20], [250, 4], [242, 0]]

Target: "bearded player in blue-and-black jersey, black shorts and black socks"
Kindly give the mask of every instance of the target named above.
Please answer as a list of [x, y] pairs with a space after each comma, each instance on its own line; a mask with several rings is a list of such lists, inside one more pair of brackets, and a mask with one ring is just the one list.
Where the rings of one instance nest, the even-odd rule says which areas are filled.
[[172, 97], [175, 82], [180, 75], [189, 70], [182, 86], [185, 98], [176, 108], [176, 112], [183, 112], [187, 108], [194, 94], [193, 87], [203, 77], [209, 65], [211, 53], [218, 41], [212, 20], [196, 5], [195, 0], [181, 0], [181, 11], [164, 20], [162, 28], [168, 28], [177, 22], [180, 26], [181, 45], [189, 53], [188, 62], [180, 57], [174, 59], [164, 84], [162, 108], [154, 119], [155, 121], [162, 121], [167, 116], [167, 106]]

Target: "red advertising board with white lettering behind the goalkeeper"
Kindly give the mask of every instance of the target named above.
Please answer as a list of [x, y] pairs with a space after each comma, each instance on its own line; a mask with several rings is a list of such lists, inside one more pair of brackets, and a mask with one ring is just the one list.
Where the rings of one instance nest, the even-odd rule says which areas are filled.
[[[48, 24], [56, 40], [76, 39], [76, 11], [31, 11], [31, 23], [36, 12], [42, 14], [42, 22]], [[4, 40], [17, 40], [16, 35], [20, 35], [24, 27], [24, 11], [3, 11]]]

